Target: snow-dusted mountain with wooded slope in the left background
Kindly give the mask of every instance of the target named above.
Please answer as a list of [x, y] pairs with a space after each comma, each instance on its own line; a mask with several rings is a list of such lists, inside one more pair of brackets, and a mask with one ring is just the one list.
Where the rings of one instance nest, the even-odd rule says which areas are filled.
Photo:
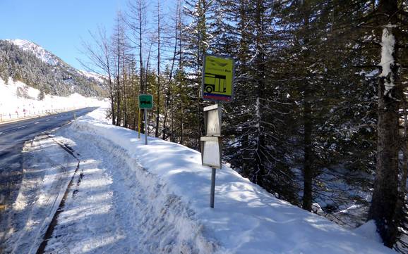
[[11, 77], [58, 96], [107, 94], [102, 75], [77, 70], [42, 46], [23, 39], [0, 40], [0, 77]]

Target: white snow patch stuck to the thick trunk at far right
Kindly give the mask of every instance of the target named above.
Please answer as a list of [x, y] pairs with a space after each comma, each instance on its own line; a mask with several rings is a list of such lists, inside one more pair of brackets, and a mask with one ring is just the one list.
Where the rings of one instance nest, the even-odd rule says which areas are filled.
[[392, 25], [387, 25], [383, 28], [383, 36], [381, 37], [381, 62], [380, 66], [382, 68], [382, 72], [380, 73], [380, 77], [388, 77], [390, 75], [390, 80], [385, 78], [385, 91], [384, 95], [388, 95], [389, 91], [395, 86], [394, 78], [392, 77], [392, 70], [391, 66], [394, 65], [394, 47], [395, 47], [395, 37], [391, 32]]

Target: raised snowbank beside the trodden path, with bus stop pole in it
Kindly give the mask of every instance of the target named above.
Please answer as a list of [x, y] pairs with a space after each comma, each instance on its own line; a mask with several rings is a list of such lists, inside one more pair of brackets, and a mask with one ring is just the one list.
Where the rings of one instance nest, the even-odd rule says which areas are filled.
[[[142, 227], [177, 233], [195, 246], [190, 253], [394, 253], [275, 198], [225, 166], [217, 170], [215, 209], [211, 209], [211, 170], [201, 165], [200, 153], [151, 137], [145, 146], [143, 135], [138, 139], [137, 132], [102, 121], [101, 110], [78, 118], [70, 129], [124, 159], [126, 166], [116, 170], [124, 171], [127, 181], [143, 183], [149, 197], [145, 202], [153, 217]], [[165, 246], [165, 236], [157, 244]]]

